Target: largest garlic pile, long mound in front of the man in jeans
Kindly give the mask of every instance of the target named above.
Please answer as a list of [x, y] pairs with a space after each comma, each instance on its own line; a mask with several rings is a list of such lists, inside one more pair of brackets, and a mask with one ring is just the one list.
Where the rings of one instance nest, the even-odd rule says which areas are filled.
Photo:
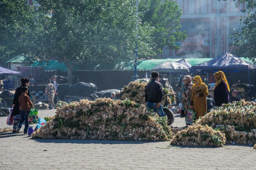
[[[33, 138], [170, 141], [170, 127], [143, 104], [99, 98], [80, 100], [57, 108], [54, 119], [37, 129]], [[167, 123], [167, 122], [164, 122]]]

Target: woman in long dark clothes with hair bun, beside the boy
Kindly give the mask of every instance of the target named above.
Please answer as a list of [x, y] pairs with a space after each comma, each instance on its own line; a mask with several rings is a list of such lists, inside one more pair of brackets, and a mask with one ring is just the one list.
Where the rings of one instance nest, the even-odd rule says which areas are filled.
[[[12, 132], [15, 133], [16, 129], [18, 127], [18, 124], [20, 123], [20, 103], [19, 103], [19, 98], [20, 95], [22, 94], [21, 92], [21, 88], [23, 86], [28, 87], [29, 86], [29, 79], [28, 78], [22, 78], [21, 79], [21, 86], [16, 88], [15, 94], [14, 94], [14, 99], [13, 99], [13, 103], [12, 103], [12, 116], [13, 116], [13, 127], [12, 127]], [[30, 96], [30, 92], [28, 89], [28, 96]]]

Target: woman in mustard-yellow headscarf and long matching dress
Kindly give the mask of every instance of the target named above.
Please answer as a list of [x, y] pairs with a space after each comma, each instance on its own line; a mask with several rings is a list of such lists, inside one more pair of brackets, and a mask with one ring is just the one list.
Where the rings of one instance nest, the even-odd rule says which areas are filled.
[[190, 108], [194, 108], [198, 119], [200, 116], [204, 116], [207, 111], [206, 96], [208, 96], [208, 89], [200, 76], [195, 76], [193, 82]]

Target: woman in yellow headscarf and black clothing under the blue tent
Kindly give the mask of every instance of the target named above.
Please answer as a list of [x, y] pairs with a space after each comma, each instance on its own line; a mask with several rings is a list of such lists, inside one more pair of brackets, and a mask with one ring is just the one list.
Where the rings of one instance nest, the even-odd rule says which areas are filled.
[[229, 100], [228, 92], [230, 89], [224, 72], [218, 71], [214, 73], [214, 78], [216, 80], [214, 87], [215, 106], [227, 104]]

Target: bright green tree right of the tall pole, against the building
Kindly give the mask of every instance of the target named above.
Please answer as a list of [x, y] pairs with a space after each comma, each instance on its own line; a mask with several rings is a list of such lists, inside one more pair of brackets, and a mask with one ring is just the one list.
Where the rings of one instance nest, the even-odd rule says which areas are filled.
[[169, 49], [180, 49], [176, 42], [187, 37], [185, 32], [179, 31], [182, 16], [179, 6], [175, 1], [161, 2], [162, 0], [150, 0], [148, 10], [142, 16], [142, 23], [150, 23], [152, 26], [151, 38], [155, 45], [154, 51], [157, 53], [161, 53], [165, 46]]

